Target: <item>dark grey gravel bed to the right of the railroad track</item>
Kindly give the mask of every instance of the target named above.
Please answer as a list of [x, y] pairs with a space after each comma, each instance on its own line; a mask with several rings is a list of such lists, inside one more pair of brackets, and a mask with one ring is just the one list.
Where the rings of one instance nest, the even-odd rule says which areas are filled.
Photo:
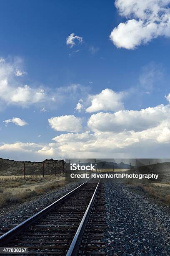
[[170, 255], [170, 208], [105, 182], [106, 254]]

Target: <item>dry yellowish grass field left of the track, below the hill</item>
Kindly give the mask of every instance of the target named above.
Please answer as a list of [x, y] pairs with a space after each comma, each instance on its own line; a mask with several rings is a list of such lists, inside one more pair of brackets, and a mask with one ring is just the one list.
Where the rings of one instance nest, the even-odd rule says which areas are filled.
[[24, 202], [30, 197], [40, 195], [65, 184], [65, 177], [57, 174], [39, 177], [18, 177], [0, 181], [0, 207]]

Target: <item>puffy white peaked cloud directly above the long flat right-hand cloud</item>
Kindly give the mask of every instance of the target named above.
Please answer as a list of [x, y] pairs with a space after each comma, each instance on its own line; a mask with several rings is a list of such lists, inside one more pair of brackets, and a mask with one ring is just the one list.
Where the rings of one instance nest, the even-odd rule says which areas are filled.
[[86, 112], [92, 113], [100, 110], [122, 110], [124, 105], [122, 98], [125, 97], [125, 92], [114, 92], [111, 89], [102, 90], [97, 95], [89, 97], [91, 106], [86, 109]]

